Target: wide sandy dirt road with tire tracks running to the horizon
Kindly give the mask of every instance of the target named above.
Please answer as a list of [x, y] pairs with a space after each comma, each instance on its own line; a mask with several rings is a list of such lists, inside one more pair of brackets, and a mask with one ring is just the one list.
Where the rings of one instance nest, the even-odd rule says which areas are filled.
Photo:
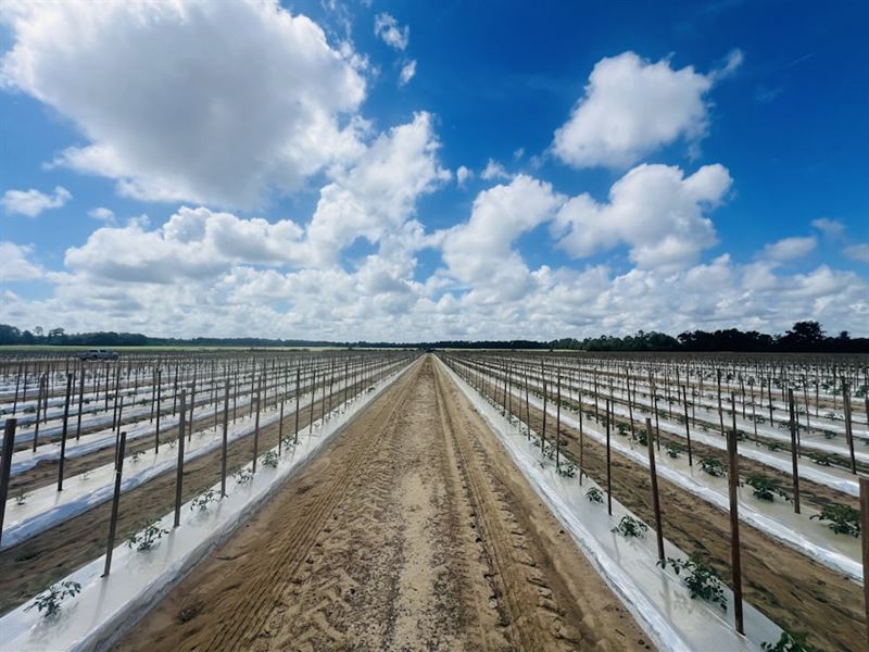
[[431, 356], [117, 644], [648, 648]]

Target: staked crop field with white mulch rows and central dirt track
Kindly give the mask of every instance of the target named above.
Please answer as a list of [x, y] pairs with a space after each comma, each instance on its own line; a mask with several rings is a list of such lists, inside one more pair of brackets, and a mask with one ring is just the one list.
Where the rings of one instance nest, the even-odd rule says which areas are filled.
[[866, 636], [859, 356], [0, 364], [9, 649], [852, 650]]

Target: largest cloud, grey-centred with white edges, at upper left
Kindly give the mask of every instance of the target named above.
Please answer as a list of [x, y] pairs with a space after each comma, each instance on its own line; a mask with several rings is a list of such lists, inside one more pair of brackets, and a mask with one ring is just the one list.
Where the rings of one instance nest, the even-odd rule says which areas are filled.
[[89, 141], [54, 164], [125, 196], [261, 205], [364, 149], [352, 52], [274, 0], [7, 3], [0, 17], [4, 85]]

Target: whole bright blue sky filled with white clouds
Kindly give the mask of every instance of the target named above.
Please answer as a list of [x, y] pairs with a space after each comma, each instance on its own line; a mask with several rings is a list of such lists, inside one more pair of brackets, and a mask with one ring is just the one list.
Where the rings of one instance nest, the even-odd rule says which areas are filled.
[[0, 323], [869, 335], [866, 2], [0, 3]]

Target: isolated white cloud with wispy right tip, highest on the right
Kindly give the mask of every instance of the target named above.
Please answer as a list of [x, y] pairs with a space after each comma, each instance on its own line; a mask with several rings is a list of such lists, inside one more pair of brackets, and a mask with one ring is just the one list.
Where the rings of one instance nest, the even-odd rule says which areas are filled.
[[741, 61], [735, 51], [722, 68], [703, 75], [634, 52], [602, 59], [570, 118], [555, 131], [553, 151], [574, 167], [627, 167], [680, 138], [695, 146], [708, 126], [706, 93]]

